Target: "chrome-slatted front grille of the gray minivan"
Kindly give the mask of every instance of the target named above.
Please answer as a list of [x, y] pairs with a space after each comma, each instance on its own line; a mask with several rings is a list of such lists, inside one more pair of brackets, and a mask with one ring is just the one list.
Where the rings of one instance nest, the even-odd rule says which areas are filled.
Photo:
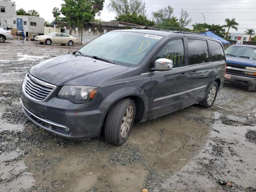
[[30, 78], [29, 75], [26, 75], [22, 89], [28, 98], [36, 101], [43, 101], [49, 96], [54, 87], [54, 85], [42, 82], [32, 76]]

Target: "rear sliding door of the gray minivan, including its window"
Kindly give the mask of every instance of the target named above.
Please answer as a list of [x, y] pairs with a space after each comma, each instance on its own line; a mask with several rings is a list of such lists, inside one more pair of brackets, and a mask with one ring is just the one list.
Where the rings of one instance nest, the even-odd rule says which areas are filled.
[[187, 39], [189, 71], [183, 106], [202, 100], [213, 76], [213, 64], [209, 62], [208, 44], [204, 39]]

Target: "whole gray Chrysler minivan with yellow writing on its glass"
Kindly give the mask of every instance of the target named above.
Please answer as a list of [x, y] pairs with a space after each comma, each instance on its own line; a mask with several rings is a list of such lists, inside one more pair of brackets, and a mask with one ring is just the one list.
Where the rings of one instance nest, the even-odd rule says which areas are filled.
[[104, 132], [123, 144], [144, 122], [195, 103], [210, 107], [223, 85], [222, 44], [182, 31], [110, 31], [72, 54], [32, 66], [20, 102], [38, 126], [66, 138]]

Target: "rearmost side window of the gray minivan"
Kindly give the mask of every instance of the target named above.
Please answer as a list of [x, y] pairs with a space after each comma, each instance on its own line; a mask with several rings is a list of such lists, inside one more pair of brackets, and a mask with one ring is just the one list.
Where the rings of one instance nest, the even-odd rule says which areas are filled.
[[209, 40], [210, 61], [221, 61], [225, 59], [224, 51], [220, 43]]

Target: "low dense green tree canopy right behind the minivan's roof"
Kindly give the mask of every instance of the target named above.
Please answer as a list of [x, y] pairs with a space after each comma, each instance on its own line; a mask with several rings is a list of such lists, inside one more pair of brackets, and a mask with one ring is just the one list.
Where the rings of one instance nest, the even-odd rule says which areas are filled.
[[128, 23], [134, 23], [142, 26], [154, 26], [155, 24], [154, 21], [148, 20], [146, 16], [137, 15], [137, 14], [119, 15], [119, 16], [116, 16], [116, 20], [128, 22]]

